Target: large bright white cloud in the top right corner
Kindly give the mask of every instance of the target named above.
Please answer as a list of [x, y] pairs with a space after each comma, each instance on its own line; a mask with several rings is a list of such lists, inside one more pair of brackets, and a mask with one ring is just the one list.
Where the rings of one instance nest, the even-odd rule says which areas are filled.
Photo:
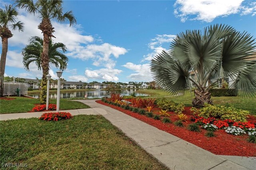
[[[174, 4], [174, 14], [182, 22], [200, 20], [211, 22], [217, 17], [241, 13], [255, 15], [254, 3], [244, 3], [244, 0], [177, 0]], [[195, 16], [190, 18], [190, 15]]]

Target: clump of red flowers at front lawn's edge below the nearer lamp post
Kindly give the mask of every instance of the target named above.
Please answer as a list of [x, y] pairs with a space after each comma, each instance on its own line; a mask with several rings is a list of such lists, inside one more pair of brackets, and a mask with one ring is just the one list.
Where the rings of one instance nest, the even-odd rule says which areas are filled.
[[68, 112], [58, 112], [58, 113], [44, 113], [39, 117], [40, 120], [46, 121], [59, 121], [62, 119], [71, 119], [72, 115]]

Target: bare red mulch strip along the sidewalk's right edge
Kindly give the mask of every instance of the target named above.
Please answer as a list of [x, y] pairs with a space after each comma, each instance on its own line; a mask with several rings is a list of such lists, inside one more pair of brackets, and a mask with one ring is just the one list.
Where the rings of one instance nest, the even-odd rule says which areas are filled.
[[[208, 150], [214, 154], [219, 155], [234, 155], [234, 156], [256, 156], [256, 145], [246, 141], [248, 135], [234, 136], [226, 133], [224, 130], [218, 130], [215, 132], [216, 137], [206, 137], [204, 134], [206, 130], [201, 129], [200, 133], [188, 131], [186, 127], [176, 127], [174, 124], [164, 124], [160, 120], [155, 120], [138, 113], [133, 113], [132, 111], [122, 109], [114, 105], [106, 104], [101, 100], [96, 101], [99, 104], [112, 107], [118, 111], [122, 111], [127, 115], [130, 115], [136, 119], [144, 121], [149, 125], [152, 125], [162, 131], [166, 131], [176, 137], [179, 137], [189, 143], [192, 143], [202, 149]], [[190, 123], [190, 112], [191, 107], [185, 107], [184, 114], [188, 115], [188, 122], [184, 122], [184, 125], [187, 126]], [[159, 108], [154, 108], [153, 113], [158, 114]], [[173, 112], [168, 112], [172, 122], [178, 120]], [[255, 121], [256, 117], [251, 116], [248, 121]]]

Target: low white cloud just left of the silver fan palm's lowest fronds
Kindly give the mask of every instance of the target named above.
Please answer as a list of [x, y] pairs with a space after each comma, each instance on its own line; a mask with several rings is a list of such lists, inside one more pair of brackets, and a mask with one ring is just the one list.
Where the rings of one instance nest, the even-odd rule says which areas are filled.
[[139, 81], [152, 81], [152, 76], [150, 73], [150, 64], [134, 64], [134, 63], [126, 63], [122, 65], [130, 70], [135, 71], [136, 73], [130, 74], [127, 78], [132, 80]]

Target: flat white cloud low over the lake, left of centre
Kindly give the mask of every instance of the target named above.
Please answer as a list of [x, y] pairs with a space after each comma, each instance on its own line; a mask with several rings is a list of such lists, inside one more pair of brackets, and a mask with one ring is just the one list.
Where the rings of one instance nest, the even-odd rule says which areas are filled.
[[85, 70], [84, 74], [87, 78], [91, 78], [91, 79], [117, 82], [119, 80], [117, 75], [120, 74], [121, 72], [122, 70], [118, 70], [118, 69], [101, 68], [98, 70]]

